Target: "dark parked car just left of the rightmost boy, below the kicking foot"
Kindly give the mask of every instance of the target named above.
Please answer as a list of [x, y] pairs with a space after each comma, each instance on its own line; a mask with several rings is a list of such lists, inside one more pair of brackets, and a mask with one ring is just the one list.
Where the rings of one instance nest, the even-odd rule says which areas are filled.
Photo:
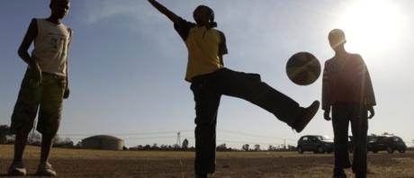
[[313, 153], [332, 153], [334, 142], [325, 136], [307, 135], [298, 140], [298, 153], [313, 151]]

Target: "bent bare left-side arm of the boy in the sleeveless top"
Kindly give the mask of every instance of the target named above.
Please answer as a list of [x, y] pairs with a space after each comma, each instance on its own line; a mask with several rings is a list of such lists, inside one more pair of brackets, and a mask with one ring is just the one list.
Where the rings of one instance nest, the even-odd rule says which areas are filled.
[[32, 72], [34, 72], [35, 82], [38, 84], [41, 83], [41, 69], [39, 63], [37, 62], [37, 58], [29, 55], [29, 48], [31, 47], [31, 42], [36, 38], [38, 35], [38, 27], [36, 20], [31, 20], [31, 24], [29, 25], [29, 29], [27, 30], [26, 34], [24, 35], [22, 44], [18, 49], [18, 54], [20, 58], [26, 62], [29, 67], [31, 68]]

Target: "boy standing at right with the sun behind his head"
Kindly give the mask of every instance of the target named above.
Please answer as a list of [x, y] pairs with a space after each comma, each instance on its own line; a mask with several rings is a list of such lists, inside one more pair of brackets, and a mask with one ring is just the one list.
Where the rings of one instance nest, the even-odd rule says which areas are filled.
[[344, 168], [351, 167], [348, 157], [348, 126], [351, 123], [355, 143], [352, 170], [356, 177], [366, 177], [366, 134], [368, 116], [374, 117], [374, 89], [363, 58], [348, 53], [344, 31], [329, 32], [329, 44], [335, 56], [325, 62], [322, 82], [322, 109], [325, 120], [331, 120], [335, 142], [334, 177], [347, 177]]

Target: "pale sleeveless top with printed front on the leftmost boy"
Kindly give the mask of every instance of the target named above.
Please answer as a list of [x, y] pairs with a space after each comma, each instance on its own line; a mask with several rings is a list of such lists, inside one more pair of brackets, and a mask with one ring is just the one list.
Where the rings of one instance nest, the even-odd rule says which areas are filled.
[[38, 58], [42, 72], [66, 76], [67, 47], [71, 40], [71, 30], [63, 23], [55, 24], [45, 19], [37, 19], [38, 34], [34, 39], [32, 56]]

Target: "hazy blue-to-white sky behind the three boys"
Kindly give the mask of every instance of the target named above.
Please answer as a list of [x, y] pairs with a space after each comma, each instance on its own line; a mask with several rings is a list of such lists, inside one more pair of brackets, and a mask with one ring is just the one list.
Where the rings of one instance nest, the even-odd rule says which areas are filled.
[[[227, 37], [227, 67], [259, 73], [267, 84], [303, 106], [320, 100], [321, 77], [294, 85], [287, 59], [310, 51], [323, 66], [333, 56], [328, 33], [342, 28], [350, 52], [359, 53], [371, 73], [377, 99], [369, 133], [391, 132], [412, 145], [414, 121], [414, 2], [410, 0], [162, 0], [193, 21], [193, 9], [214, 9]], [[0, 124], [10, 116], [26, 65], [17, 56], [31, 18], [49, 16], [49, 0], [0, 1]], [[184, 81], [187, 52], [172, 22], [145, 0], [72, 0], [64, 20], [75, 32], [69, 53], [71, 96], [64, 102], [58, 133], [75, 141], [96, 134], [125, 139], [127, 146], [175, 144], [175, 132], [193, 145], [194, 103]], [[217, 143], [296, 145], [304, 134], [333, 138], [331, 122], [319, 111], [302, 133], [240, 99], [222, 97]], [[156, 132], [156, 133], [155, 133]], [[160, 132], [160, 133], [158, 133]], [[260, 136], [260, 137], [257, 137]]]

